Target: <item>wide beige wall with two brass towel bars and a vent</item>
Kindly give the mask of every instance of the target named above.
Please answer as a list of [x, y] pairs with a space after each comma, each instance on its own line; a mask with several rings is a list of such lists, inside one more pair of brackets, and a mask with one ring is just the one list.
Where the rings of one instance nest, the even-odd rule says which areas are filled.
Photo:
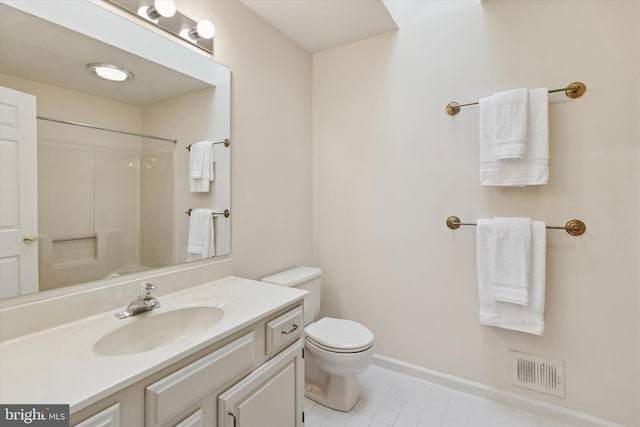
[[[391, 1], [400, 30], [314, 56], [314, 263], [324, 313], [376, 351], [625, 425], [639, 425], [640, 3]], [[550, 183], [480, 187], [478, 109], [515, 87], [550, 98]], [[578, 218], [547, 234], [544, 336], [481, 326], [474, 222]], [[631, 227], [631, 228], [629, 228]], [[566, 362], [566, 399], [509, 385], [510, 349]]]

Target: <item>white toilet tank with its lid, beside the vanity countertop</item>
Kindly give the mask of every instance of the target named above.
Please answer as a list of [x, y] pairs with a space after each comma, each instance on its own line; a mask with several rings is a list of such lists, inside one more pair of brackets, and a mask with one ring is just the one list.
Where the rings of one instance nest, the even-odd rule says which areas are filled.
[[262, 279], [263, 282], [280, 286], [293, 286], [309, 293], [304, 297], [304, 324], [317, 319], [320, 312], [320, 286], [322, 270], [315, 267], [296, 267]]

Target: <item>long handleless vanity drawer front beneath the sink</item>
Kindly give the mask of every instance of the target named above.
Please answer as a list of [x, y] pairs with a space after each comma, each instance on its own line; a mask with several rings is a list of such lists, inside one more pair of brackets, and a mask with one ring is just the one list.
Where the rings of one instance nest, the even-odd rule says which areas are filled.
[[254, 363], [251, 332], [151, 384], [146, 389], [146, 427], [164, 424], [223, 384], [251, 372]]

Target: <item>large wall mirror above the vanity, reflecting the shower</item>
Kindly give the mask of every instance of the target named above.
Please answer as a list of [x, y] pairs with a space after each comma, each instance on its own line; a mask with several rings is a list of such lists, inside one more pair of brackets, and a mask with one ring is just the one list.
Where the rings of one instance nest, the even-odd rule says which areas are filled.
[[[0, 39], [0, 86], [35, 97], [37, 206], [27, 210], [37, 211], [39, 276], [37, 284], [12, 284], [19, 277], [3, 270], [0, 297], [230, 252], [230, 218], [214, 215], [230, 209], [230, 147], [209, 144], [206, 189], [194, 189], [185, 149], [224, 139], [213, 120], [215, 87], [5, 4]], [[87, 68], [96, 62], [133, 79], [103, 80]], [[3, 148], [2, 165], [11, 159]], [[29, 197], [4, 178], [0, 229], [20, 223], [17, 206]], [[195, 209], [211, 211], [211, 248], [202, 256], [188, 252]]]

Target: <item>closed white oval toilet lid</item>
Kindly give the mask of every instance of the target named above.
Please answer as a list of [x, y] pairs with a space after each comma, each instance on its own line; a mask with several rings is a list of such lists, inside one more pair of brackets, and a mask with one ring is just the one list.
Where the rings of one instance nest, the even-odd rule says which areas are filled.
[[337, 352], [357, 352], [371, 347], [373, 332], [360, 323], [325, 317], [304, 328], [307, 339]]

